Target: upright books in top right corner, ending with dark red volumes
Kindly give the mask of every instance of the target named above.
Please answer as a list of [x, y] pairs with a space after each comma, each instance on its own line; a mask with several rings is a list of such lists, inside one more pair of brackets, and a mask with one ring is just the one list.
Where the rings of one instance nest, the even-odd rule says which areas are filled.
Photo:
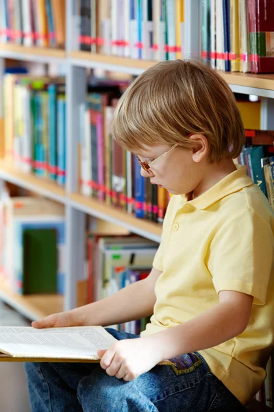
[[203, 61], [217, 70], [274, 71], [274, 2], [203, 0]]

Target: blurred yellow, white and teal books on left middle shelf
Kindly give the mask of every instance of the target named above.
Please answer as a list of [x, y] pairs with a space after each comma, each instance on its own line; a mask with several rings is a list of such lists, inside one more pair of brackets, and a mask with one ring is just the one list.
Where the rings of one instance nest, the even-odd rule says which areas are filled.
[[5, 156], [16, 168], [64, 185], [64, 78], [6, 74], [3, 78]]

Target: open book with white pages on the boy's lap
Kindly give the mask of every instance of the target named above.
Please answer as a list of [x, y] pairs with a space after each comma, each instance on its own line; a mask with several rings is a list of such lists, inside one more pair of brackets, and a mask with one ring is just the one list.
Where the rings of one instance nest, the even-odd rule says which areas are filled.
[[97, 350], [117, 340], [102, 326], [0, 327], [0, 361], [99, 362]]

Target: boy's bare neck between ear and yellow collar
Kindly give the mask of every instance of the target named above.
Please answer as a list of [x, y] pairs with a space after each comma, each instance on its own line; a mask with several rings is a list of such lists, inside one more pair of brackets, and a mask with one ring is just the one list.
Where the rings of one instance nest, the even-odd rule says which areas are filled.
[[203, 170], [203, 179], [199, 185], [192, 192], [188, 193], [188, 201], [201, 196], [210, 187], [216, 185], [228, 174], [237, 170], [236, 165], [232, 159], [223, 159], [220, 163], [207, 164]]

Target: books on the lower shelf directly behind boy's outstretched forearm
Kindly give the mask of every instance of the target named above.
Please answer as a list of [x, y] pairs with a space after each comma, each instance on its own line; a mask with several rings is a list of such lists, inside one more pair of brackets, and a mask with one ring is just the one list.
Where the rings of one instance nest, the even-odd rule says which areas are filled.
[[[116, 232], [116, 233], [115, 233]], [[115, 234], [114, 234], [115, 233]], [[158, 244], [132, 235], [126, 229], [88, 231], [86, 242], [87, 303], [118, 292], [145, 279], [152, 268]], [[116, 330], [140, 334], [149, 318], [111, 325]]]

